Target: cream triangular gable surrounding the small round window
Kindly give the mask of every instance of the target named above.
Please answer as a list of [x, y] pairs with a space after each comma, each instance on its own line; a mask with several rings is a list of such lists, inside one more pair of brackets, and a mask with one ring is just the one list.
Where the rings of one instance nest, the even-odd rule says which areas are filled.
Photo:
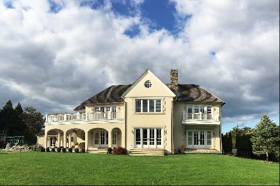
[[[151, 81], [152, 86], [146, 88], [146, 81]], [[175, 97], [176, 95], [158, 79], [151, 71], [146, 70], [122, 95], [122, 98], [137, 97]]]

